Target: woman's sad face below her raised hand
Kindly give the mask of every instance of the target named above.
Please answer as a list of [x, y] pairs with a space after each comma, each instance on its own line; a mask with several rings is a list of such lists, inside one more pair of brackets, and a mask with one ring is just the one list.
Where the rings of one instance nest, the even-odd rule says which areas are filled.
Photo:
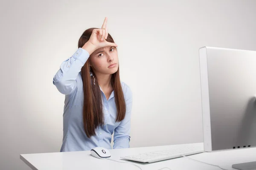
[[[115, 64], [113, 66], [110, 66]], [[119, 62], [116, 47], [102, 47], [90, 55], [90, 66], [100, 74], [113, 74], [117, 71]]]

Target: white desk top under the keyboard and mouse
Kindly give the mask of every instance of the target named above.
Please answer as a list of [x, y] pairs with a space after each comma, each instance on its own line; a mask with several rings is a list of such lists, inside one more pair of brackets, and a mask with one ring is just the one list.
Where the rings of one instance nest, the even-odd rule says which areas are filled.
[[[203, 147], [203, 143], [195, 143], [195, 145]], [[111, 159], [124, 161], [119, 157], [148, 151], [168, 150], [175, 146], [177, 145], [112, 149], [110, 150]], [[232, 168], [232, 164], [256, 161], [256, 147], [211, 153], [205, 152], [191, 155], [189, 158], [215, 164], [228, 170], [236, 170]], [[20, 159], [32, 170], [140, 170], [132, 164], [97, 159], [90, 155], [90, 151], [21, 154]], [[131, 162], [140, 166], [142, 170], [159, 170], [163, 167], [169, 167], [172, 170], [221, 170], [218, 167], [184, 157], [154, 163]], [[168, 169], [165, 168], [163, 170]]]

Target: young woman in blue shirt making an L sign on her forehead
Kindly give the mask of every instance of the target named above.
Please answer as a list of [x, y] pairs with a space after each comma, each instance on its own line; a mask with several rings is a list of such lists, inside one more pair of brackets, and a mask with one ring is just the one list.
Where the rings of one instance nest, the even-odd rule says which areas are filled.
[[78, 50], [61, 63], [53, 84], [65, 94], [61, 152], [116, 148], [130, 142], [132, 92], [119, 78], [117, 45], [102, 28], [89, 28]]

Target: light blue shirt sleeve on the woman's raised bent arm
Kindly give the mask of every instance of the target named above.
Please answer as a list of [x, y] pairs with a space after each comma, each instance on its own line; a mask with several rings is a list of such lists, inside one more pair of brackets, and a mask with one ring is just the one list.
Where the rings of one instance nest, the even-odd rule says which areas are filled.
[[61, 63], [52, 81], [61, 94], [71, 94], [76, 89], [76, 78], [89, 57], [86, 50], [78, 48], [72, 57]]

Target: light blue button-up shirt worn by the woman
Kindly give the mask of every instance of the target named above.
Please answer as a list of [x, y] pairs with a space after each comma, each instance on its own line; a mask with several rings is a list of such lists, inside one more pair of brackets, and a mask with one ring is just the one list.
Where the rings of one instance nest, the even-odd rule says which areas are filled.
[[[53, 77], [53, 84], [61, 94], [65, 94], [63, 113], [63, 140], [61, 152], [91, 150], [100, 146], [111, 148], [111, 137], [114, 132], [113, 149], [130, 147], [132, 92], [124, 82], [121, 81], [125, 97], [126, 113], [125, 119], [115, 122], [116, 103], [114, 91], [107, 100], [100, 87], [103, 99], [104, 126], [96, 129], [96, 135], [88, 138], [84, 132], [83, 123], [83, 82], [81, 68], [89, 58], [89, 53], [83, 48], [78, 48], [72, 57], [61, 63], [60, 69]], [[92, 82], [90, 82], [92, 83]]]

